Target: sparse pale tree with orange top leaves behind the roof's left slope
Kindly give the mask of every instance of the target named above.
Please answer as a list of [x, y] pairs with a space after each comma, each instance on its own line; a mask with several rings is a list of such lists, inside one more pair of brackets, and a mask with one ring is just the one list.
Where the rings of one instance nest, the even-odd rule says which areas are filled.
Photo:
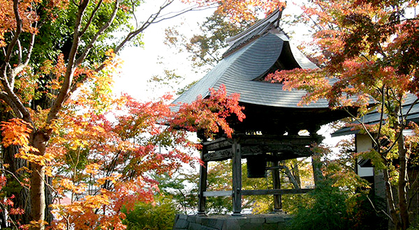
[[[193, 36], [186, 36], [179, 32], [182, 24], [170, 26], [165, 30], [165, 44], [172, 48], [175, 54], [186, 52], [189, 55], [191, 66], [196, 72], [205, 73], [216, 65], [221, 59], [224, 49], [228, 47], [225, 39], [235, 36], [245, 28], [255, 23], [264, 15], [269, 15], [273, 10], [285, 6], [284, 1], [230, 1], [230, 0], [203, 0], [186, 1], [197, 2], [200, 6], [218, 6], [217, 9], [205, 18], [200, 24], [200, 31]], [[164, 60], [164, 59], [163, 59]], [[149, 82], [161, 86], [174, 85], [186, 79], [177, 74], [177, 70], [166, 69], [166, 61], [161, 61], [163, 72], [154, 75]], [[175, 83], [177, 82], [177, 83]], [[177, 94], [183, 93], [196, 82], [188, 82], [183, 89], [177, 90]]]

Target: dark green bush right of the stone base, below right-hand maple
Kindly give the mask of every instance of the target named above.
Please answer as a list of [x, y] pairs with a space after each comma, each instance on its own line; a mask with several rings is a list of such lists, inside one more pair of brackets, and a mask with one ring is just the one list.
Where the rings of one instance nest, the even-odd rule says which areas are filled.
[[300, 229], [374, 229], [388, 228], [385, 200], [374, 194], [357, 193], [335, 187], [335, 179], [326, 178], [316, 190], [301, 196], [300, 207], [289, 230]]

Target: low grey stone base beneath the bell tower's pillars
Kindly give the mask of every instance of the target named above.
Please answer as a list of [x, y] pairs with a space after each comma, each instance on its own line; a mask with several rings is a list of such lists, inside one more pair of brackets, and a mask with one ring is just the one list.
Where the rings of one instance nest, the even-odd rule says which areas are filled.
[[173, 230], [284, 230], [291, 221], [285, 213], [265, 215], [182, 215], [175, 217]]

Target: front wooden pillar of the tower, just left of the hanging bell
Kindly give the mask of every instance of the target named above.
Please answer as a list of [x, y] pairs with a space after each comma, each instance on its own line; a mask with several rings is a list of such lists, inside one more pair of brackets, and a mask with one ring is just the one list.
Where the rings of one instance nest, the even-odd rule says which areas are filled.
[[242, 215], [242, 153], [237, 139], [233, 140], [233, 215]]

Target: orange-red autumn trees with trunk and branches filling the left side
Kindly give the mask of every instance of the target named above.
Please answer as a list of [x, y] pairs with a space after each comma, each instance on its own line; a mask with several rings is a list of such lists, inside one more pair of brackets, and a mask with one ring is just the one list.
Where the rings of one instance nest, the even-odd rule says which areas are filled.
[[[183, 115], [173, 118], [168, 98], [146, 103], [110, 94], [124, 46], [140, 45], [150, 25], [199, 8], [167, 12], [172, 2], [127, 26], [143, 1], [0, 1], [0, 184], [7, 201], [0, 227], [45, 229], [52, 208], [50, 227], [121, 229], [122, 206], [151, 201], [158, 192], [149, 174], [192, 159], [195, 146], [184, 130], [199, 119], [174, 129], [170, 121]], [[116, 31], [122, 36], [115, 38]], [[230, 133], [223, 120], [240, 108], [230, 104], [234, 98], [213, 100], [221, 100], [219, 114], [201, 114], [211, 116], [202, 118], [212, 125], [207, 133], [219, 131], [214, 124]], [[66, 206], [59, 203], [65, 197]]]

